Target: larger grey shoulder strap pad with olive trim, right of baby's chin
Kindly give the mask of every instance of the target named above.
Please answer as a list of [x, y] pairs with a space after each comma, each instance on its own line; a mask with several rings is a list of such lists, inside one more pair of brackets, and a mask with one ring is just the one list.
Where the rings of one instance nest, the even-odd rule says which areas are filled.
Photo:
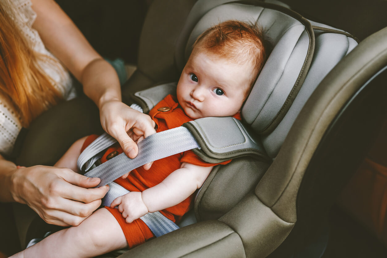
[[186, 123], [185, 126], [209, 157], [233, 158], [237, 152], [246, 150], [265, 153], [262, 144], [252, 137], [241, 121], [233, 117], [200, 118]]

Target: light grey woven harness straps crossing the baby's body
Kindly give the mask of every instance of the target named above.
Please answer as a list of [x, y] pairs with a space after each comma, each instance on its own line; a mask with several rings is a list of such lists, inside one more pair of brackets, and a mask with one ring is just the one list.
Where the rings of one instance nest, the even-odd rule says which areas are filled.
[[[115, 142], [114, 138], [107, 133], [98, 137], [80, 154], [77, 161], [78, 167], [81, 169], [86, 165], [86, 167], [90, 168], [102, 156], [101, 152]], [[134, 159], [130, 159], [125, 153], [122, 153], [85, 174], [88, 177], [101, 178], [101, 183], [97, 187], [103, 185], [110, 186], [108, 193], [103, 198], [104, 206], [110, 206], [115, 198], [129, 192], [122, 186], [114, 183], [113, 180], [151, 161], [169, 157], [190, 149], [200, 148], [189, 130], [183, 126], [150, 135], [137, 146], [139, 147], [139, 154]], [[148, 213], [140, 217], [140, 219], [144, 221], [156, 237], [179, 228], [173, 221], [166, 218], [160, 212]]]

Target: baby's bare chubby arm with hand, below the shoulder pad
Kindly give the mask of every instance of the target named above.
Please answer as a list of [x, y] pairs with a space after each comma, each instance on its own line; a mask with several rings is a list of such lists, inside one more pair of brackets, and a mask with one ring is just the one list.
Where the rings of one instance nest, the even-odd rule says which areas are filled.
[[188, 196], [199, 189], [212, 167], [202, 167], [186, 162], [173, 171], [161, 183], [143, 192], [130, 192], [117, 197], [110, 205], [122, 213], [127, 223], [147, 214], [172, 207], [183, 202]]

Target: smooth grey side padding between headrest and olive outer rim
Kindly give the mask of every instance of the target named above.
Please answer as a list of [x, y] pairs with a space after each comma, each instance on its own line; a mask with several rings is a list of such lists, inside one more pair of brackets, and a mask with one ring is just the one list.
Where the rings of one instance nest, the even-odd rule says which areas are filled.
[[[349, 45], [348, 43], [351, 42]], [[301, 108], [325, 75], [357, 45], [354, 39], [335, 33], [316, 32], [315, 54], [305, 82], [283, 120], [269, 135], [261, 137], [269, 157], [276, 157]]]

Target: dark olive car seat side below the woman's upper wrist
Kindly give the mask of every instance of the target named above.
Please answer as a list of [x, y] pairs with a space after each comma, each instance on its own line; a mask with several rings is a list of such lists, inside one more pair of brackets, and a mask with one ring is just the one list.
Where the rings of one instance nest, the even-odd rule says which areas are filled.
[[90, 99], [64, 101], [31, 123], [16, 164], [53, 166], [76, 140], [102, 132], [98, 108]]

